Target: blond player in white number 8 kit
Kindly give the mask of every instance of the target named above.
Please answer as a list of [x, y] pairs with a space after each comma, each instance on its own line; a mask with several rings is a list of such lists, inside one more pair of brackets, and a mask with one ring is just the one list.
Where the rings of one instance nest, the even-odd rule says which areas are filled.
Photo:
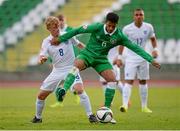
[[[36, 114], [31, 121], [32, 123], [42, 122], [42, 111], [45, 105], [45, 99], [66, 78], [69, 70], [73, 67], [73, 62], [75, 60], [73, 44], [76, 44], [76, 41], [73, 38], [59, 44], [58, 46], [52, 46], [50, 44], [50, 40], [60, 34], [58, 18], [50, 16], [46, 19], [45, 24], [47, 30], [51, 34], [42, 42], [39, 63], [43, 64], [47, 60], [48, 56], [50, 56], [52, 59], [53, 69], [41, 85], [40, 92], [36, 100]], [[83, 47], [83, 45], [79, 45], [79, 47]], [[71, 88], [73, 88], [79, 95], [81, 104], [86, 110], [89, 121], [91, 123], [98, 122], [92, 113], [91, 103], [88, 95], [84, 91], [83, 83], [79, 74], [76, 76], [75, 82]]]

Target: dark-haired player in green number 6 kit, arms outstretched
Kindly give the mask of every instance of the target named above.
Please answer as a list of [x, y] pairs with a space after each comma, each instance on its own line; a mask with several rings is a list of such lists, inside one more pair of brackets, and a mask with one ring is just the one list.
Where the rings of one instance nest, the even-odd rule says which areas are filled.
[[67, 75], [63, 88], [58, 88], [58, 90], [56, 90], [56, 97], [59, 101], [63, 101], [66, 92], [74, 82], [76, 74], [88, 67], [93, 67], [108, 82], [108, 88], [106, 88], [105, 91], [104, 106], [110, 107], [115, 94], [117, 81], [114, 72], [112, 71], [112, 65], [107, 59], [107, 54], [111, 48], [118, 45], [126, 46], [156, 68], [160, 68], [160, 64], [156, 62], [151, 55], [146, 53], [135, 43], [131, 42], [122, 31], [116, 27], [118, 20], [118, 15], [110, 12], [106, 16], [105, 24], [95, 23], [81, 26], [51, 40], [52, 45], [58, 45], [60, 42], [67, 41], [77, 34], [91, 33], [86, 47], [74, 61], [74, 67]]

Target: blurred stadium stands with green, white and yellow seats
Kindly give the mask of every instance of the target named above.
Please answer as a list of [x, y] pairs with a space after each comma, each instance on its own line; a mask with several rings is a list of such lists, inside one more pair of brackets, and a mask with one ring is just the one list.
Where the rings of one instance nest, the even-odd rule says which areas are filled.
[[[152, 23], [158, 39], [158, 61], [162, 64], [162, 69], [151, 68], [151, 78], [179, 80], [178, 0], [1, 0], [0, 80], [38, 81], [50, 71], [48, 64], [37, 65], [41, 42], [48, 35], [43, 25], [47, 16], [63, 13], [68, 25], [77, 27], [103, 21], [107, 12], [113, 10], [120, 16], [119, 27], [122, 28], [132, 22], [132, 11], [135, 8], [144, 9], [145, 21]], [[88, 35], [78, 37], [85, 43], [88, 40]], [[94, 77], [91, 72], [90, 69], [88, 76], [91, 77], [88, 79], [96, 79], [97, 75]]]

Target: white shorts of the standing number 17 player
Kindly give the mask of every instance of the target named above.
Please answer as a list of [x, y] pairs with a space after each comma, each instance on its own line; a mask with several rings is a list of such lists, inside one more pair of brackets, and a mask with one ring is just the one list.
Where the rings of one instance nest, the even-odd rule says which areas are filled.
[[143, 62], [125, 62], [124, 76], [125, 80], [139, 80], [149, 79], [149, 63]]

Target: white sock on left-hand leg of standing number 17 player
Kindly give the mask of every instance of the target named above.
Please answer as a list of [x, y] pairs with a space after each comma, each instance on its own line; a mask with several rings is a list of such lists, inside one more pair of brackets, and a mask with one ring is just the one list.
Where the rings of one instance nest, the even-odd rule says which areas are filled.
[[125, 83], [124, 87], [123, 87], [123, 106], [125, 106], [126, 108], [128, 108], [128, 102], [131, 96], [131, 88], [132, 85]]

